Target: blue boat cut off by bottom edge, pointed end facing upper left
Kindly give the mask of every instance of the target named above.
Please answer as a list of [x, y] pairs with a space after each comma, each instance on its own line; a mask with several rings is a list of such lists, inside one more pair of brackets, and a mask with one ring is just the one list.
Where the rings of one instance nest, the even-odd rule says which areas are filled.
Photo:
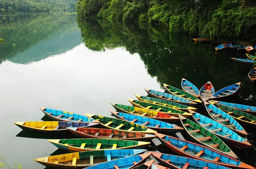
[[152, 155], [161, 165], [169, 167], [170, 169], [228, 169], [219, 164], [194, 158], [163, 154], [161, 152], [152, 152]]

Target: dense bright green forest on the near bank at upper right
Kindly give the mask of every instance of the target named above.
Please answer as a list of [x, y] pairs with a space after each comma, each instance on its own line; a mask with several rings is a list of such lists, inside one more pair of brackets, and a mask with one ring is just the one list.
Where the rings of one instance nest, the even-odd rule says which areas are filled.
[[254, 0], [79, 0], [76, 10], [87, 17], [123, 23], [157, 23], [170, 32], [207, 37], [254, 37]]

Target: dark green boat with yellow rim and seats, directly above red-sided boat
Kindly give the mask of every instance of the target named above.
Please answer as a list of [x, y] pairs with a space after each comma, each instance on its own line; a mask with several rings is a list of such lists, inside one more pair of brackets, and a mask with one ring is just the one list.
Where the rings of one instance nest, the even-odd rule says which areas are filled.
[[153, 134], [154, 130], [148, 129], [147, 127], [141, 126], [141, 125], [134, 125], [134, 123], [131, 123], [129, 121], [120, 120], [112, 117], [106, 117], [102, 115], [94, 115], [85, 113], [90, 118], [93, 118], [94, 120], [97, 120], [100, 122], [100, 124], [106, 128], [110, 128], [113, 130], [119, 130], [119, 131], [125, 131], [125, 132], [142, 132], [142, 133], [148, 133]]

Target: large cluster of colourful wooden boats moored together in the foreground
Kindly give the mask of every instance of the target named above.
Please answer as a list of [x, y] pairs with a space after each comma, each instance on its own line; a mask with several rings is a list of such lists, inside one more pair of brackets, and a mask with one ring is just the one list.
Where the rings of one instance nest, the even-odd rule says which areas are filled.
[[[242, 161], [228, 145], [251, 146], [243, 126], [256, 127], [256, 107], [217, 101], [239, 90], [240, 82], [215, 92], [211, 82], [200, 90], [182, 79], [182, 90], [163, 84], [166, 91], [145, 89], [130, 105], [111, 103], [113, 117], [79, 115], [40, 107], [52, 121], [15, 122], [23, 130], [50, 134], [72, 133], [72, 139], [48, 140], [71, 153], [36, 158], [48, 167], [64, 169], [255, 169]], [[208, 117], [197, 112], [203, 104]], [[179, 125], [179, 126], [178, 126]], [[185, 132], [190, 141], [170, 136]], [[158, 139], [172, 154], [145, 149]], [[149, 160], [154, 157], [155, 160]], [[158, 161], [161, 165], [156, 164]]]

